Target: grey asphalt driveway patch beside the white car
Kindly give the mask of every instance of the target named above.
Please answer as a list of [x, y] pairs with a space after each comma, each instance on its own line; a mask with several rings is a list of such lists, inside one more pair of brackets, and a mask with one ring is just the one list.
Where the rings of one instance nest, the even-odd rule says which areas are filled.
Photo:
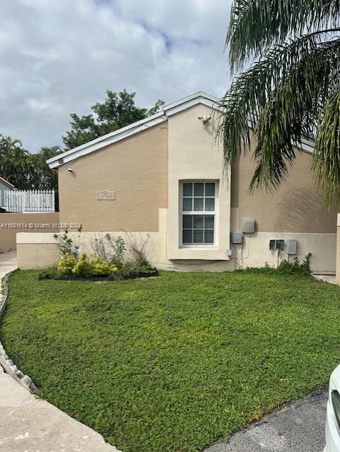
[[322, 452], [327, 389], [264, 417], [205, 452]]

